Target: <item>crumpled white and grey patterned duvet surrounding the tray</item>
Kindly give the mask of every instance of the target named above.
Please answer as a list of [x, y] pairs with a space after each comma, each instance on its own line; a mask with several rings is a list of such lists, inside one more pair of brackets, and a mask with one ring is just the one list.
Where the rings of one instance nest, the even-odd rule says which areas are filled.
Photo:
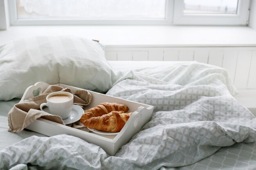
[[115, 156], [72, 136], [30, 137], [0, 151], [4, 160], [0, 168], [20, 163], [44, 169], [189, 166], [221, 147], [256, 141], [256, 118], [234, 99], [236, 93], [227, 71], [208, 64], [174, 62], [138, 69], [107, 95], [150, 104], [155, 109], [150, 121]]

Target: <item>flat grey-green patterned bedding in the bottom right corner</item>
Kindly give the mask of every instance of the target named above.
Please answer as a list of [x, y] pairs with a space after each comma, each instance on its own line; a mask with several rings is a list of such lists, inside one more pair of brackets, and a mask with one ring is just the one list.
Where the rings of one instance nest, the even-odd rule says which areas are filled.
[[236, 143], [222, 147], [213, 155], [179, 168], [162, 167], [161, 170], [255, 170], [256, 142]]

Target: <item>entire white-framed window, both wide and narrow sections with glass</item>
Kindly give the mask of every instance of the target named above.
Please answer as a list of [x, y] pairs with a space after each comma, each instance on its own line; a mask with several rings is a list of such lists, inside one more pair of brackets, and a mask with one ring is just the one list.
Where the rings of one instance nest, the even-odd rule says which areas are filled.
[[13, 25], [246, 25], [249, 0], [9, 0]]

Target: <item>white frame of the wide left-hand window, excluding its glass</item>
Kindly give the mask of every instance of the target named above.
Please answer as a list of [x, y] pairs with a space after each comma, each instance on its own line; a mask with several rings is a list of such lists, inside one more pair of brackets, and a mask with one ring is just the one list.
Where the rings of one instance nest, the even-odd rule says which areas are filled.
[[8, 0], [11, 25], [170, 25], [174, 0], [166, 0], [163, 19], [18, 19], [16, 0]]

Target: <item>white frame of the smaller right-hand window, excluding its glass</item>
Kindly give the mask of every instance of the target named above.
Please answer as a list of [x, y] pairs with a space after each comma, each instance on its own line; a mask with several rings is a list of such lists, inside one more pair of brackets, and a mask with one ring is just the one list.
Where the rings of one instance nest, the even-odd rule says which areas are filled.
[[173, 24], [175, 25], [241, 25], [249, 21], [250, 0], [238, 0], [236, 14], [183, 13], [184, 0], [174, 1]]

